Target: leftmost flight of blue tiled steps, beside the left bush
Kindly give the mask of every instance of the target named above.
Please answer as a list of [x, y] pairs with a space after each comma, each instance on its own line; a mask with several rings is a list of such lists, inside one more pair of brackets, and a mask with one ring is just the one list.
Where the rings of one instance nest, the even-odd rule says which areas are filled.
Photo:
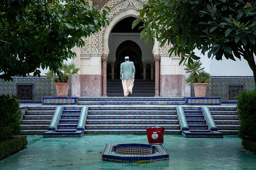
[[28, 107], [23, 115], [21, 134], [43, 134], [48, 131], [55, 107]]

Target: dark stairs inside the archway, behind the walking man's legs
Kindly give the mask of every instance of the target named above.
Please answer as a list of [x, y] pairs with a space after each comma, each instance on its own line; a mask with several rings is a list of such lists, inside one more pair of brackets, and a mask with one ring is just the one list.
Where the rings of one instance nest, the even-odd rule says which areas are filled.
[[[134, 80], [134, 87], [132, 89], [133, 97], [153, 97], [155, 95], [155, 82], [154, 80]], [[124, 91], [121, 79], [108, 79], [107, 80], [107, 96], [109, 97], [122, 97]]]

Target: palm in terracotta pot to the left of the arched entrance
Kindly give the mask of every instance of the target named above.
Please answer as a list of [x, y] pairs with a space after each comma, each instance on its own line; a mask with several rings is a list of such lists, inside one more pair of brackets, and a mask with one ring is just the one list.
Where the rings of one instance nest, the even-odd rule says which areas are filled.
[[46, 73], [47, 79], [53, 79], [56, 86], [57, 97], [67, 97], [69, 93], [69, 78], [77, 74], [80, 68], [76, 67], [73, 62], [65, 62], [57, 72], [49, 70]]

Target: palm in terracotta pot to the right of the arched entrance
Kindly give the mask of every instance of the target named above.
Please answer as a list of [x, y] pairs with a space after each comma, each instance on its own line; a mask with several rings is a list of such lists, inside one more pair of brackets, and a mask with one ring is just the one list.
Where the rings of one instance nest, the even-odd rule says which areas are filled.
[[193, 63], [185, 64], [185, 72], [189, 73], [186, 80], [188, 84], [194, 85], [195, 97], [205, 97], [206, 87], [211, 81], [210, 73], [204, 71], [204, 67], [201, 68], [201, 61], [193, 61]]

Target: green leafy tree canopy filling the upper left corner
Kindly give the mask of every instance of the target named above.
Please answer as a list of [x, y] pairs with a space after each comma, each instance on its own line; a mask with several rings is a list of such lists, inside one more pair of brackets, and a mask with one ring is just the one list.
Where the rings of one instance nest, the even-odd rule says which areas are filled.
[[[101, 12], [85, 0], [0, 1], [0, 78], [40, 76], [40, 67], [57, 71], [74, 58], [82, 37], [109, 24], [109, 8]], [[94, 4], [96, 5], [96, 4]]]

